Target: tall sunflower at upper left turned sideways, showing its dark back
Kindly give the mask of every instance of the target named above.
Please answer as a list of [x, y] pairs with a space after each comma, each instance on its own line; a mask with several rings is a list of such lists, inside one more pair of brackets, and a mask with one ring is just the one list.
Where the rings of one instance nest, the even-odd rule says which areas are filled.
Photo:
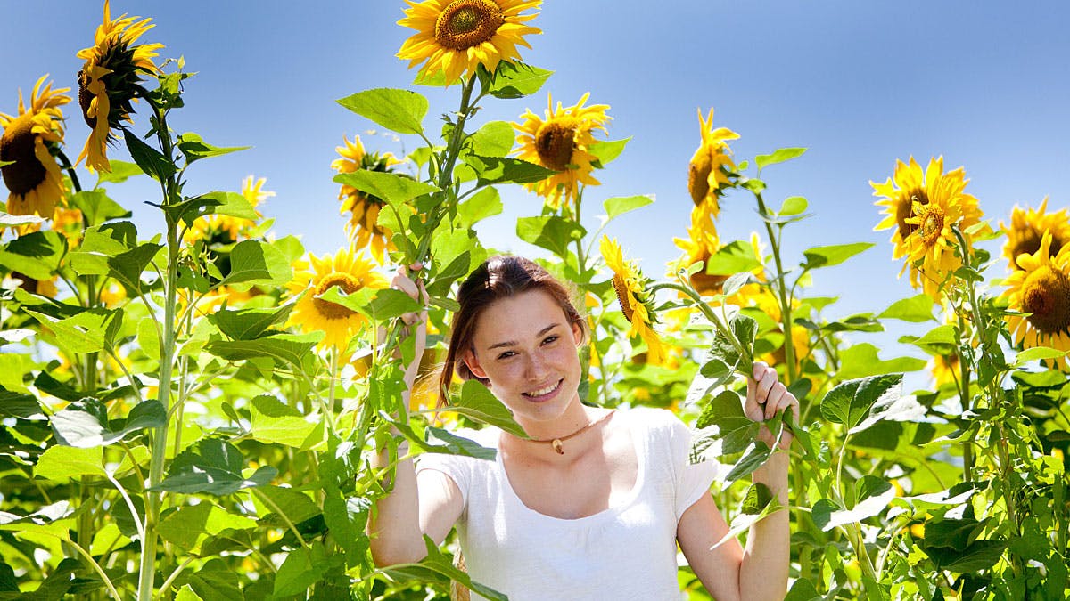
[[110, 1], [104, 1], [104, 22], [96, 28], [93, 45], [78, 51], [86, 64], [78, 72], [78, 104], [82, 117], [92, 132], [86, 148], [78, 155], [78, 163], [89, 158], [89, 166], [98, 171], [111, 171], [107, 144], [114, 139], [112, 129], [124, 127], [134, 111], [131, 103], [141, 93], [141, 74], [156, 74], [159, 68], [152, 62], [163, 44], [134, 46], [154, 25], [152, 19], [139, 17], [111, 18]]

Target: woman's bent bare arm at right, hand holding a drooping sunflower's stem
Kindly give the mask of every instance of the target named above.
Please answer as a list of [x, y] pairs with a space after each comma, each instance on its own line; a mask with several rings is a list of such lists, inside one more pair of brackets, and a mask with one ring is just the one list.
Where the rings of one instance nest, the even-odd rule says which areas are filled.
[[[773, 368], [755, 363], [744, 411], [755, 420], [768, 419], [784, 411], [792, 411], [797, 419], [798, 401], [777, 380]], [[785, 432], [776, 452], [751, 475], [755, 483], [769, 488], [781, 507], [788, 507], [791, 438]], [[764, 425], [759, 440], [767, 445], [775, 442]], [[730, 540], [709, 551], [728, 531], [729, 525], [710, 495], [703, 495], [689, 507], [677, 525], [681, 550], [706, 589], [718, 601], [783, 599], [788, 592], [791, 543], [788, 511], [776, 511], [752, 525], [746, 549], [738, 541]]]

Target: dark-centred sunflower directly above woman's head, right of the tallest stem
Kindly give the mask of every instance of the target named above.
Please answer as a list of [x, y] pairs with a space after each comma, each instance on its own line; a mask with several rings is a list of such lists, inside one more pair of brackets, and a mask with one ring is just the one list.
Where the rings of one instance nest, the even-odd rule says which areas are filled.
[[520, 147], [514, 152], [523, 160], [556, 171], [541, 182], [524, 184], [553, 209], [575, 199], [580, 184], [599, 185], [591, 175], [597, 159], [588, 151], [599, 143], [592, 132], [606, 132], [606, 122], [612, 118], [606, 114], [609, 105], [583, 106], [590, 96], [590, 92], [583, 94], [576, 106], [568, 108], [562, 108], [560, 101], [554, 108], [553, 97], [549, 96], [545, 119], [528, 109], [520, 115], [523, 123], [513, 124]]

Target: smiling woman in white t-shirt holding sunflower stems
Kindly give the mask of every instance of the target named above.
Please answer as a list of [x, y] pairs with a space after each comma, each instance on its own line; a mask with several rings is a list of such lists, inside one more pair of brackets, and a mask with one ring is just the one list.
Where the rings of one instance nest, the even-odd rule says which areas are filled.
[[[403, 273], [394, 284], [418, 294]], [[732, 540], [710, 551], [729, 526], [708, 492], [716, 468], [688, 465], [687, 427], [663, 410], [580, 402], [586, 323], [561, 282], [526, 259], [495, 257], [469, 276], [458, 303], [442, 388], [455, 372], [478, 380], [529, 438], [487, 428], [468, 435], [495, 448], [493, 461], [427, 453], [417, 466], [398, 464], [369, 526], [377, 564], [418, 561], [424, 535], [441, 542], [457, 525], [472, 579], [510, 600], [679, 599], [677, 543], [718, 600], [784, 597], [785, 511], [751, 526], [746, 550]], [[422, 326], [415, 335], [410, 388]], [[755, 420], [797, 417], [798, 401], [758, 363], [745, 410]], [[773, 444], [765, 426], [759, 436]], [[783, 506], [788, 460], [775, 452], [752, 475]]]

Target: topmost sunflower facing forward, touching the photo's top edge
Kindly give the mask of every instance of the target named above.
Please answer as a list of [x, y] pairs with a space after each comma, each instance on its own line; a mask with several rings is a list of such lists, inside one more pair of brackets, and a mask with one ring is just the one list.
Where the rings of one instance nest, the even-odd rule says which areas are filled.
[[421, 76], [445, 75], [446, 83], [474, 73], [483, 65], [494, 73], [500, 61], [519, 60], [517, 45], [531, 48], [524, 35], [542, 33], [524, 25], [536, 15], [522, 15], [537, 9], [541, 0], [406, 0], [409, 9], [398, 21], [416, 30], [406, 40], [397, 57], [409, 61], [409, 68], [427, 61]]

